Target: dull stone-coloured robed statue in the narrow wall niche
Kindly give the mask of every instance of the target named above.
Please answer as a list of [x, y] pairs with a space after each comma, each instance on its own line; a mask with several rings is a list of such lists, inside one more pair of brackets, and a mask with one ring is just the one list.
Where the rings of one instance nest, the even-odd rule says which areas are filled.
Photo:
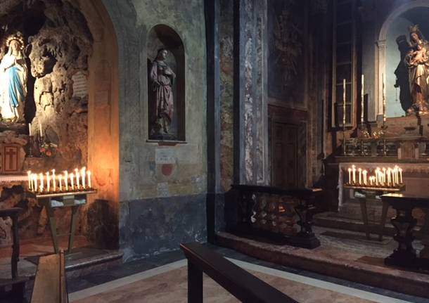
[[169, 127], [173, 118], [173, 91], [172, 85], [176, 74], [165, 63], [167, 49], [159, 49], [151, 67], [151, 84], [153, 89], [153, 101], [156, 104], [155, 116], [151, 132], [154, 135], [169, 134]]

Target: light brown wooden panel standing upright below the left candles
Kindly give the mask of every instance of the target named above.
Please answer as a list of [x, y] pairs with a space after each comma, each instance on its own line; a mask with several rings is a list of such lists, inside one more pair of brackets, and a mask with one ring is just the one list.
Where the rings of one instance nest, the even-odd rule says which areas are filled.
[[40, 257], [31, 303], [68, 303], [64, 251]]

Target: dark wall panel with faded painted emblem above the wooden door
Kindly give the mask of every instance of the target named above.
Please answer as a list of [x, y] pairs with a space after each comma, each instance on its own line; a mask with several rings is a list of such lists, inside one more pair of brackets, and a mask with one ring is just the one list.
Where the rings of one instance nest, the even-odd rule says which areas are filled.
[[268, 96], [304, 105], [306, 2], [268, 1]]

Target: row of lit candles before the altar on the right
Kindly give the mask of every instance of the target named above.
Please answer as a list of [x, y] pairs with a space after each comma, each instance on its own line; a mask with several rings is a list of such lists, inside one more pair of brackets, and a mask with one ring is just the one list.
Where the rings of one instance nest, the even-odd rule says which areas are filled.
[[397, 165], [395, 165], [393, 168], [377, 167], [373, 176], [369, 176], [369, 171], [366, 169], [361, 169], [361, 167], [356, 168], [355, 165], [349, 167], [347, 171], [349, 172], [348, 185], [395, 187], [400, 186], [403, 183], [402, 168], [398, 167]]

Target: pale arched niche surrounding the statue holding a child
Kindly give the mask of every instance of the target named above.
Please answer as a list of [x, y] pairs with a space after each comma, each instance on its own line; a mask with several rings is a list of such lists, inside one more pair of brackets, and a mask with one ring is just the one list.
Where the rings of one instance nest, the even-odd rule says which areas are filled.
[[[376, 41], [376, 113], [383, 114], [383, 75], [386, 79], [386, 113], [388, 117], [405, 115], [404, 108], [409, 105], [406, 101], [407, 79], [403, 70], [402, 56], [409, 41], [409, 25], [419, 24], [421, 32], [428, 39], [429, 35], [429, 2], [426, 0], [406, 1], [397, 6], [388, 15], [380, 27], [378, 40]], [[402, 69], [402, 70], [401, 70]], [[396, 72], [396, 74], [395, 74]], [[396, 83], [397, 76], [399, 81]], [[395, 84], [399, 85], [395, 88]], [[402, 91], [401, 91], [402, 89]]]

